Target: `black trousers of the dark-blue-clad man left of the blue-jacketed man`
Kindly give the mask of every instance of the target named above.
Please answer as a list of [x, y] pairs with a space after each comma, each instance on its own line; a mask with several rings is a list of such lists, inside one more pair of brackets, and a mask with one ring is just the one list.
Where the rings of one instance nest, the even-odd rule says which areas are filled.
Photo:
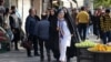
[[[33, 45], [33, 50], [34, 50], [34, 55], [38, 54], [38, 39], [36, 35], [29, 35], [28, 37], [28, 40], [32, 42], [32, 45]], [[27, 49], [27, 54], [28, 56], [31, 56], [31, 49]]]

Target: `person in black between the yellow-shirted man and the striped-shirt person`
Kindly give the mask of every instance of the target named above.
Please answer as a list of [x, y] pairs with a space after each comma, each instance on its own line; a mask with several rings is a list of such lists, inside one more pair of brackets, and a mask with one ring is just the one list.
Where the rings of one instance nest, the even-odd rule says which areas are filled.
[[98, 8], [94, 12], [93, 16], [93, 33], [98, 37], [97, 39], [102, 39], [102, 31], [101, 31], [101, 25], [100, 25], [100, 17], [103, 16], [104, 13], [102, 12], [103, 10], [101, 8]]

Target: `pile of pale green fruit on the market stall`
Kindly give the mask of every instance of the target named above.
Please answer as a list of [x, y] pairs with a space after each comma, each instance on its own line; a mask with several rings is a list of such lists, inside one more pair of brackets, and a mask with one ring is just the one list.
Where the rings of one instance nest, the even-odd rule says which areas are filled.
[[80, 43], [75, 43], [77, 48], [92, 48], [95, 46], [97, 43], [90, 40], [81, 41]]

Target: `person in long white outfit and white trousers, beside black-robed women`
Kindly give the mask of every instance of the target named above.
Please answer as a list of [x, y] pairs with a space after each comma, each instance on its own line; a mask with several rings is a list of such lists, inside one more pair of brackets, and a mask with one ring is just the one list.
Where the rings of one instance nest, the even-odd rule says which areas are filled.
[[67, 60], [67, 48], [70, 46], [71, 33], [68, 28], [67, 21], [64, 19], [63, 10], [58, 13], [58, 30], [59, 30], [59, 48], [60, 48], [60, 62], [65, 62]]

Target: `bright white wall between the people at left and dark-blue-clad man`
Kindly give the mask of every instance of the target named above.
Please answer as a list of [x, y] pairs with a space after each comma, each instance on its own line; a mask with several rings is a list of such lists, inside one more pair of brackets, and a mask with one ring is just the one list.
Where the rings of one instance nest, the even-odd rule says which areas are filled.
[[22, 29], [24, 30], [26, 19], [29, 16], [29, 9], [31, 8], [30, 0], [18, 0], [18, 12], [22, 19]]

